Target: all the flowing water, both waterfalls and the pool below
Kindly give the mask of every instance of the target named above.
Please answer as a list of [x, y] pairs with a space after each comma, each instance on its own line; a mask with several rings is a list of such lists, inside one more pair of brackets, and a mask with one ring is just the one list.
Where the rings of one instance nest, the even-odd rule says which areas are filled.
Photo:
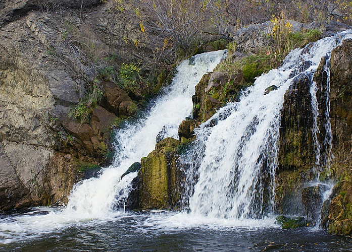
[[[90, 246], [129, 251], [352, 249], [348, 240], [333, 238], [321, 230], [300, 234], [283, 231], [275, 224], [273, 214], [284, 94], [299, 74], [313, 76], [321, 57], [330, 55], [348, 37], [352, 32], [293, 50], [282, 67], [257, 78], [254, 86], [243, 91], [239, 102], [228, 103], [196, 129], [196, 142], [184, 157], [191, 167], [184, 196], [189, 202], [188, 211], [117, 210], [116, 205], [127, 198], [137, 174], [130, 173], [123, 179], [121, 175], [154, 149], [160, 132], [163, 137], [178, 138], [179, 123], [191, 114], [194, 86], [205, 72], [216, 67], [224, 51], [199, 54], [182, 62], [164, 95], [140, 120], [128, 122], [118, 132], [114, 164], [99, 177], [76, 184], [66, 208], [35, 208], [1, 216], [0, 250], [28, 250], [35, 244], [40, 244], [38, 249], [51, 251], [92, 250]], [[307, 61], [311, 66], [300, 68]], [[272, 85], [277, 89], [265, 95]], [[311, 233], [318, 236], [307, 240], [314, 237]], [[273, 235], [277, 236], [275, 240]], [[297, 241], [285, 243], [291, 235]]]

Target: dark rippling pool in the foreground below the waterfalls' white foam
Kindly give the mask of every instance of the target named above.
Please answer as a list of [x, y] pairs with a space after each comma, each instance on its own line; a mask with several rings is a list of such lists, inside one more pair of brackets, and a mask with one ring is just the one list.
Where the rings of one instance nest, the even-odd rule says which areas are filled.
[[352, 251], [352, 238], [301, 228], [159, 229], [145, 218], [77, 225], [39, 237], [0, 244], [0, 251]]

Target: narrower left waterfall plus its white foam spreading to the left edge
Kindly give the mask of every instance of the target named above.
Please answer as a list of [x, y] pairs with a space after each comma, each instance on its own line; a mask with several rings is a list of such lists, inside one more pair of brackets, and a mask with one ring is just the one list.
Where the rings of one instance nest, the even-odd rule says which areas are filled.
[[131, 181], [136, 172], [122, 174], [134, 162], [154, 150], [156, 136], [178, 138], [178, 126], [192, 112], [191, 97], [195, 85], [203, 75], [211, 72], [226, 54], [226, 50], [195, 55], [184, 60], [169, 87], [163, 90], [154, 105], [138, 121], [131, 121], [116, 134], [114, 165], [104, 168], [102, 174], [77, 183], [66, 208], [49, 211], [46, 215], [23, 215], [0, 221], [0, 238], [9, 240], [17, 236], [62, 228], [86, 220], [104, 220], [122, 214], [115, 205], [128, 197]]

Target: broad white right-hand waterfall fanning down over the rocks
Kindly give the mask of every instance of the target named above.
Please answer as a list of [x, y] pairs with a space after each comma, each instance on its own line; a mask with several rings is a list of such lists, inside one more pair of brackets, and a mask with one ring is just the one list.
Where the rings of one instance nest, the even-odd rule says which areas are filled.
[[[293, 50], [277, 70], [271, 70], [243, 91], [239, 102], [228, 103], [196, 130], [197, 140], [189, 152], [189, 209], [193, 216], [246, 219], [270, 216], [274, 205], [280, 110], [292, 80], [305, 74], [313, 78], [323, 56], [352, 33], [342, 32]], [[309, 66], [304, 66], [310, 62]], [[265, 95], [266, 88], [276, 90]], [[315, 97], [316, 87], [311, 88]], [[312, 99], [318, 116], [317, 99]], [[328, 104], [327, 104], [328, 106]], [[328, 116], [329, 107], [325, 116]], [[314, 138], [318, 124], [314, 120]], [[326, 129], [330, 129], [327, 124]], [[331, 138], [326, 140], [331, 143]], [[321, 149], [316, 146], [317, 164]], [[195, 161], [192, 161], [195, 160]], [[312, 167], [313, 168], [313, 167]]]

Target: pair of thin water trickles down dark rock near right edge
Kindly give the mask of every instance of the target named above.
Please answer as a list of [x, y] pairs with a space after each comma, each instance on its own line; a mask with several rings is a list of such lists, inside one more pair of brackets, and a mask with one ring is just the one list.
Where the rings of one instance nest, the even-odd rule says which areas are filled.
[[[320, 173], [329, 173], [332, 132], [330, 123], [330, 56], [325, 56], [325, 65], [322, 71], [321, 85], [312, 82], [312, 134], [316, 152], [316, 167], [313, 168], [313, 182], [302, 191], [302, 199], [305, 215], [316, 227], [321, 226], [321, 211], [323, 203], [329, 199], [332, 193], [332, 181], [320, 181]], [[325, 84], [325, 85], [324, 85]], [[319, 92], [319, 95], [317, 94]], [[318, 98], [319, 97], [319, 101]]]

